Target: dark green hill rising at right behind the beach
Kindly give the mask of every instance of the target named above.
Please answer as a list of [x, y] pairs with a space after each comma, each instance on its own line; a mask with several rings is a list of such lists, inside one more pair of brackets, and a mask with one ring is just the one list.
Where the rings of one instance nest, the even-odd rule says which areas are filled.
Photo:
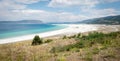
[[78, 21], [75, 23], [118, 25], [118, 24], [120, 24], [120, 15], [88, 19], [88, 20], [84, 20], [84, 21]]

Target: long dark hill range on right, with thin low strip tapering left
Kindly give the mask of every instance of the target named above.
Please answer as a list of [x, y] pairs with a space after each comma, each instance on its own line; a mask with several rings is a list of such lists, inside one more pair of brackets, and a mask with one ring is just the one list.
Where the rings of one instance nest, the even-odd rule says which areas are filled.
[[77, 22], [50, 22], [50, 24], [120, 24], [120, 15], [87, 19]]

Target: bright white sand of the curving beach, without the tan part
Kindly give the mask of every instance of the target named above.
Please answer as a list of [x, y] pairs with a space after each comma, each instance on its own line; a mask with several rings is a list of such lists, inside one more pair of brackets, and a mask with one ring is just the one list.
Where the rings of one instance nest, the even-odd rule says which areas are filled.
[[40, 37], [44, 38], [44, 37], [49, 37], [49, 36], [54, 36], [59, 34], [75, 34], [80, 32], [83, 33], [88, 31], [95, 31], [98, 29], [95, 25], [90, 25], [90, 24], [62, 24], [62, 25], [67, 25], [68, 27], [60, 30], [50, 31], [50, 32], [24, 35], [24, 36], [7, 38], [7, 39], [0, 39], [0, 44], [33, 39], [35, 35], [39, 35]]

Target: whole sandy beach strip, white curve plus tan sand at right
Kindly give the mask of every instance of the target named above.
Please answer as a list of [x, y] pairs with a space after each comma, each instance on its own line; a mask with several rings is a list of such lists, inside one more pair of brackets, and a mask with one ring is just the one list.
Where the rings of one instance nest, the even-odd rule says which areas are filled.
[[90, 31], [100, 31], [100, 32], [114, 32], [120, 30], [120, 25], [97, 25], [97, 24], [57, 24], [57, 25], [65, 25], [68, 26], [67, 28], [38, 33], [38, 34], [31, 34], [31, 35], [24, 35], [19, 37], [7, 38], [7, 39], [0, 39], [0, 44], [5, 43], [12, 43], [17, 41], [24, 41], [33, 39], [35, 35], [39, 35], [42, 38], [51, 37], [56, 35], [72, 35], [76, 33], [85, 33]]

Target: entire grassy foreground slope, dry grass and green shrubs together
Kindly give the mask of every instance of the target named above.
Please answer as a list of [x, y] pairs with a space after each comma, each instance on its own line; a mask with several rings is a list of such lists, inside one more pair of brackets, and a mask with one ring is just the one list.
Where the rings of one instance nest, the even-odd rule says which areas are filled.
[[[49, 41], [50, 40], [50, 41]], [[92, 32], [0, 45], [0, 61], [119, 61], [120, 32]]]

